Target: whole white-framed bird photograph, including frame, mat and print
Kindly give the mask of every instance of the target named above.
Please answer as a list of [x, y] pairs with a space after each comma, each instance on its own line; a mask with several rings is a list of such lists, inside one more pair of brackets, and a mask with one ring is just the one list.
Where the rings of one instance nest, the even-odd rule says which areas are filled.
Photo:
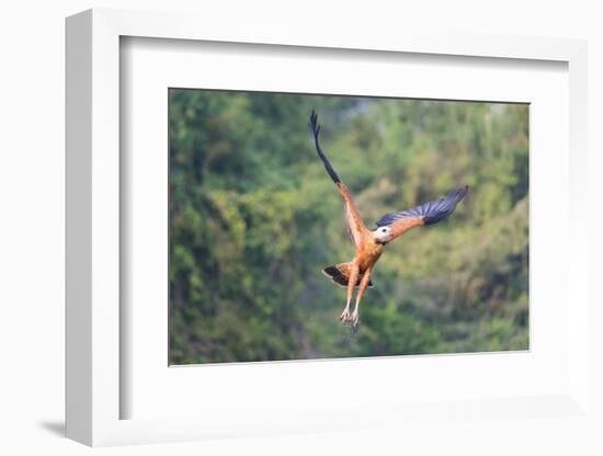
[[68, 436], [582, 415], [584, 44], [197, 20], [67, 21]]

